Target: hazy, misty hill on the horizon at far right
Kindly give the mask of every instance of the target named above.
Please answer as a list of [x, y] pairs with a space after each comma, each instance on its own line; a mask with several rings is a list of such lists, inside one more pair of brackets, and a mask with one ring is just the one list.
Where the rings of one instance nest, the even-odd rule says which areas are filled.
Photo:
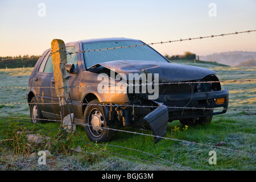
[[229, 51], [229, 52], [212, 53], [211, 55], [199, 56], [199, 57], [200, 57], [200, 60], [204, 60], [204, 61], [216, 61], [217, 63], [236, 66], [250, 59], [256, 60], [256, 52]]

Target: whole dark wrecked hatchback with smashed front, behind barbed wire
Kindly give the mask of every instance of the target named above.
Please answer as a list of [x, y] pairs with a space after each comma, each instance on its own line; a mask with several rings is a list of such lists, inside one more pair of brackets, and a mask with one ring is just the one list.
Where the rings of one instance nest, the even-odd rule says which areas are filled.
[[[229, 91], [221, 90], [214, 71], [170, 63], [141, 40], [90, 39], [65, 47], [70, 88], [64, 116], [72, 111], [92, 141], [111, 140], [114, 129], [131, 126], [151, 130], [157, 143], [168, 122], [210, 123], [228, 109]], [[32, 122], [61, 119], [51, 48], [37, 61], [28, 86]]]

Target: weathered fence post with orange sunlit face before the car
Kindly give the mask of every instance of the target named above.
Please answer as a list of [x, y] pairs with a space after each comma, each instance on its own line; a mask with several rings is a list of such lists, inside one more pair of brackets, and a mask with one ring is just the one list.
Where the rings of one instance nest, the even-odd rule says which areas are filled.
[[53, 39], [51, 43], [53, 75], [55, 80], [55, 92], [59, 97], [61, 106], [61, 125], [63, 123], [64, 105], [67, 104], [69, 94], [68, 72], [65, 68], [67, 64], [66, 47], [63, 40]]

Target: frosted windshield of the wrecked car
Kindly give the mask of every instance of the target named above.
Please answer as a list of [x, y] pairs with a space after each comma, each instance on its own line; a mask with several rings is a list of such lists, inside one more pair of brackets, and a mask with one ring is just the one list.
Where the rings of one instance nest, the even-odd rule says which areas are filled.
[[[138, 40], [110, 40], [83, 43], [83, 49], [86, 51], [114, 48], [114, 47], [126, 47], [143, 44]], [[102, 51], [84, 52], [86, 68], [92, 67], [98, 63], [104, 63], [114, 60], [147, 60], [147, 61], [161, 61], [168, 62], [162, 55], [156, 52], [149, 46], [136, 46], [126, 48], [116, 48]]]

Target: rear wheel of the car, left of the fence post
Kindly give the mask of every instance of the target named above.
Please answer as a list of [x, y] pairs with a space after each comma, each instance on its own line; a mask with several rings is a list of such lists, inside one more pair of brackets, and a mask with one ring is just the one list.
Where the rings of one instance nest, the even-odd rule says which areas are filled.
[[38, 105], [38, 101], [36, 100], [35, 97], [32, 97], [30, 101], [30, 118], [31, 122], [33, 123], [38, 123], [41, 122], [41, 119], [44, 119], [42, 111]]

